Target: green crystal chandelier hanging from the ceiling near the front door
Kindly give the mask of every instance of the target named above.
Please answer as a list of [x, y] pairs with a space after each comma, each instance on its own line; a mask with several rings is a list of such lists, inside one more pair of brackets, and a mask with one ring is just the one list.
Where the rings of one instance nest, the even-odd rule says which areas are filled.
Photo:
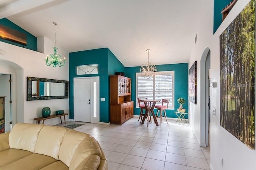
[[64, 66], [66, 64], [66, 58], [64, 57], [64, 60], [61, 59], [60, 55], [57, 54], [57, 47], [56, 47], [56, 25], [58, 25], [56, 22], [53, 23], [54, 24], [54, 47], [53, 48], [53, 54], [47, 55], [47, 57], [45, 58], [46, 61], [46, 65], [50, 66], [52, 65], [53, 67], [56, 67], [57, 65], [59, 67]]

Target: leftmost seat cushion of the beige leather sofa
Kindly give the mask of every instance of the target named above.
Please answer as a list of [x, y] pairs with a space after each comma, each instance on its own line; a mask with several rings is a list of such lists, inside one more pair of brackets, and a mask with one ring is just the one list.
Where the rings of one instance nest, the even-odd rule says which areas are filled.
[[21, 150], [21, 149], [7, 149], [7, 150], [0, 151], [0, 167], [10, 164], [21, 158], [24, 158], [30, 154], [33, 154], [33, 153], [27, 150]]

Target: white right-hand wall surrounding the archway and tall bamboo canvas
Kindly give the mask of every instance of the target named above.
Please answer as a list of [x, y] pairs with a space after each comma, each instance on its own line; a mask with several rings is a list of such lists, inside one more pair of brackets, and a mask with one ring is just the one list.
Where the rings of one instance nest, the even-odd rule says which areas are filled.
[[[220, 126], [220, 34], [236, 18], [250, 0], [238, 0], [226, 19], [222, 22], [216, 33], [212, 35], [212, 13], [213, 2], [203, 2], [200, 20], [198, 21], [198, 43], [193, 47], [189, 66], [194, 61], [200, 61], [206, 47], [211, 51], [211, 82], [217, 82], [216, 88], [211, 88], [211, 170], [252, 170], [256, 169], [256, 151], [249, 149], [236, 137]], [[198, 64], [199, 65], [199, 64]], [[200, 68], [198, 68], [200, 76]], [[198, 83], [200, 77], [198, 77]], [[197, 88], [200, 93], [200, 84]], [[198, 97], [200, 94], [198, 95]], [[190, 119], [196, 138], [200, 141], [200, 98], [198, 104], [190, 103]], [[201, 101], [202, 102], [202, 101]], [[213, 109], [216, 115], [213, 115]], [[202, 125], [201, 125], [202, 126]], [[220, 164], [220, 157], [223, 158], [223, 167]]]

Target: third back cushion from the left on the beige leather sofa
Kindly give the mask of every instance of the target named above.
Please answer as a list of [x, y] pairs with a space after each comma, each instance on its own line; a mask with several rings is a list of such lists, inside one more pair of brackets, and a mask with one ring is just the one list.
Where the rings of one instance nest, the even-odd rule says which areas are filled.
[[69, 167], [76, 148], [86, 137], [88, 137], [88, 135], [85, 133], [75, 130], [68, 130], [65, 133], [62, 144], [60, 146], [59, 160], [64, 162], [64, 164]]

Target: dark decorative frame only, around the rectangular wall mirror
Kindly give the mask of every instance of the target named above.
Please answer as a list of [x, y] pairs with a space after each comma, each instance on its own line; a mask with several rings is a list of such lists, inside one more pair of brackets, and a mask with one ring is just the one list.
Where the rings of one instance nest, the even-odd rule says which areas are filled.
[[[65, 83], [65, 96], [36, 96], [32, 97], [32, 81]], [[68, 98], [68, 81], [55, 80], [48, 78], [27, 77], [27, 101], [30, 100], [48, 100], [48, 99], [67, 99]]]

